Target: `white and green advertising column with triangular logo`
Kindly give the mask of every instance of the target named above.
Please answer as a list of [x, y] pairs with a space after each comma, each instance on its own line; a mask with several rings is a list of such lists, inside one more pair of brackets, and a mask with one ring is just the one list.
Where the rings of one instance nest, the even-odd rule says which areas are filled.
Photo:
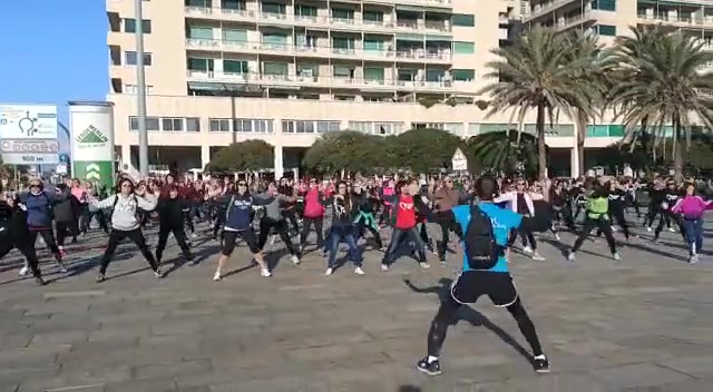
[[114, 104], [69, 102], [71, 175], [114, 186]]

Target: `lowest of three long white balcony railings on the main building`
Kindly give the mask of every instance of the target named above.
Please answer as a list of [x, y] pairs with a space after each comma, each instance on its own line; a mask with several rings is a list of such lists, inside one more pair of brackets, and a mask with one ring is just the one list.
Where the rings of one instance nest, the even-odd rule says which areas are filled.
[[289, 74], [256, 74], [256, 72], [215, 72], [203, 70], [188, 70], [186, 76], [196, 80], [213, 80], [216, 82], [254, 82], [266, 85], [310, 85], [313, 87], [331, 88], [333, 86], [353, 86], [362, 88], [406, 88], [413, 90], [440, 90], [451, 89], [453, 82], [450, 80], [427, 81], [427, 80], [394, 80], [374, 78], [350, 78], [339, 76], [309, 76]]

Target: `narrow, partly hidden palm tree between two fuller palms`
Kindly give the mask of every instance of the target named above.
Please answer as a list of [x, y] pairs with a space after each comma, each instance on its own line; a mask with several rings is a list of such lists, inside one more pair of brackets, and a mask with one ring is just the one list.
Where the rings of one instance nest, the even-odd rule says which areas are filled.
[[593, 115], [602, 117], [597, 108], [606, 107], [606, 94], [613, 80], [612, 70], [616, 62], [614, 52], [604, 49], [598, 37], [587, 30], [573, 30], [566, 36], [569, 50], [566, 60], [583, 67], [573, 69], [572, 77], [576, 80], [577, 94], [585, 100], [586, 108], [574, 107], [577, 131], [575, 133], [578, 173], [585, 173], [584, 144], [587, 137], [587, 125], [596, 121]]

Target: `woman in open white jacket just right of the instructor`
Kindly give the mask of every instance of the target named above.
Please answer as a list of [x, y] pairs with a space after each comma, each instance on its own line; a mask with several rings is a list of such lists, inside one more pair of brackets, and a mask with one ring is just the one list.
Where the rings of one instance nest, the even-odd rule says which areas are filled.
[[544, 261], [545, 257], [540, 256], [537, 252], [537, 241], [535, 241], [530, 227], [531, 219], [535, 217], [535, 204], [533, 203], [533, 197], [527, 192], [525, 179], [518, 178], [515, 183], [515, 190], [500, 195], [500, 197], [495, 199], [495, 203], [507, 203], [512, 212], [522, 215], [522, 224], [517, 231], [512, 231], [509, 244], [514, 244], [519, 234], [522, 241], [522, 252], [530, 254], [533, 259]]

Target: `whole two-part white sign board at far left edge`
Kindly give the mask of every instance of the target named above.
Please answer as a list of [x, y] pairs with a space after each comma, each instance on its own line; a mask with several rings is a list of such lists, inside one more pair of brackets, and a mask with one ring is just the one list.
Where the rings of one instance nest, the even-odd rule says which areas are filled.
[[0, 105], [0, 139], [2, 161], [6, 164], [57, 164], [57, 107]]

